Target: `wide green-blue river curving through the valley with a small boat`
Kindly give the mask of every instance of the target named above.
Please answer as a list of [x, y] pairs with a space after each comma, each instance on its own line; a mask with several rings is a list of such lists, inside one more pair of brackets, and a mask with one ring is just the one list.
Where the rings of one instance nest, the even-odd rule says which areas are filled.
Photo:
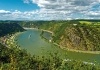
[[[31, 55], [49, 57], [49, 54], [58, 53], [58, 56], [63, 59], [68, 58], [71, 60], [82, 60], [95, 64], [100, 63], [100, 54], [79, 53], [63, 50], [42, 39], [40, 36], [41, 32], [41, 30], [37, 29], [28, 29], [27, 31], [19, 34], [16, 37], [19, 46], [22, 49], [26, 49]], [[46, 36], [47, 35], [50, 36], [50, 34], [46, 34]]]

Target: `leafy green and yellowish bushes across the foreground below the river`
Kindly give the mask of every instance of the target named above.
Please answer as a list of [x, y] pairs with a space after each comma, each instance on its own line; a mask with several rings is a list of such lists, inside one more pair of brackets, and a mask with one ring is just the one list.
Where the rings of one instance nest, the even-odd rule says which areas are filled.
[[[99, 67], [82, 61], [65, 61], [55, 54], [50, 58], [31, 56], [26, 50], [7, 48], [0, 44], [0, 70], [100, 70]], [[66, 58], [67, 59], [67, 58]]]

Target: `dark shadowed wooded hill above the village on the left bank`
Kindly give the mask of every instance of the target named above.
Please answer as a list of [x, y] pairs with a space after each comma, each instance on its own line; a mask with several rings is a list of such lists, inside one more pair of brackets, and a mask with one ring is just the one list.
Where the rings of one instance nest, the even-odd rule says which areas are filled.
[[0, 36], [23, 31], [24, 29], [17, 23], [0, 23]]

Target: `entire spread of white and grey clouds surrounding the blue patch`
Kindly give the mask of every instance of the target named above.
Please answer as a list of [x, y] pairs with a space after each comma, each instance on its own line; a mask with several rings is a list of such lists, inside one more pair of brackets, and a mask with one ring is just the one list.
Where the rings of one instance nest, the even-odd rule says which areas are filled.
[[[23, 0], [24, 3], [37, 4], [40, 9], [32, 11], [5, 11], [0, 10], [2, 19], [25, 19], [25, 20], [66, 20], [77, 18], [100, 19], [100, 7], [94, 7], [100, 0]], [[95, 10], [93, 10], [95, 9]], [[1, 19], [1, 18], [0, 18]]]

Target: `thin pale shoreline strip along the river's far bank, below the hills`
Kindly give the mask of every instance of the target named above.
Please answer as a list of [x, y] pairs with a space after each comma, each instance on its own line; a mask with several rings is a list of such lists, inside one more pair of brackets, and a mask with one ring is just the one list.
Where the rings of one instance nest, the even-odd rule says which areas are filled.
[[[37, 29], [37, 28], [26, 28], [26, 27], [23, 27], [25, 29]], [[46, 32], [49, 32], [49, 33], [52, 33], [52, 35], [54, 34], [52, 31], [49, 31], [49, 30], [45, 30], [45, 29], [38, 29], [38, 30], [42, 30], [42, 31], [46, 31]], [[59, 48], [63, 49], [63, 50], [66, 50], [66, 51], [71, 51], [71, 52], [77, 52], [77, 53], [87, 53], [87, 54], [100, 54], [100, 51], [82, 51], [82, 50], [74, 50], [74, 49], [69, 49], [69, 48], [66, 48], [66, 47], [62, 47], [61, 45], [57, 44], [57, 43], [53, 43], [51, 42], [52, 44], [58, 46]]]

